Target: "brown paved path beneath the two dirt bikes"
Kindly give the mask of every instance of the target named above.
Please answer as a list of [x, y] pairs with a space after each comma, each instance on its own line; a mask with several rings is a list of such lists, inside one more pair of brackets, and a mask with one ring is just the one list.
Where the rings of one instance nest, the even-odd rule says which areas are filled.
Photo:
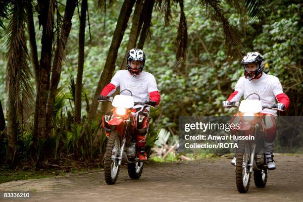
[[251, 178], [247, 194], [238, 193], [227, 158], [149, 162], [139, 180], [131, 180], [123, 167], [115, 185], [106, 185], [103, 170], [96, 170], [3, 183], [0, 192], [34, 190], [30, 200], [18, 202], [303, 202], [303, 155], [275, 159], [277, 169], [270, 171], [266, 187], [256, 188]]

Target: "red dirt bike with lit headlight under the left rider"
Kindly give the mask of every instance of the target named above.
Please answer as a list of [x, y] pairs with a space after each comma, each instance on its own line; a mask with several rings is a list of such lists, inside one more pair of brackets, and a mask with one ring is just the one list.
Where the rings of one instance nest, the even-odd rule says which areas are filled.
[[[137, 156], [138, 148], [134, 135], [135, 118], [131, 112], [137, 104], [142, 105], [143, 108], [153, 106], [149, 101], [134, 102], [132, 92], [129, 92], [131, 96], [116, 95], [114, 98], [107, 97], [106, 100], [102, 100], [112, 102], [114, 107], [111, 117], [105, 117], [105, 115], [102, 117], [102, 124], [108, 138], [104, 157], [104, 177], [108, 185], [116, 182], [122, 163], [128, 165], [128, 175], [132, 179], [139, 179], [143, 171], [144, 162], [140, 161]], [[106, 129], [104, 125], [105, 119], [107, 119], [110, 130]]]

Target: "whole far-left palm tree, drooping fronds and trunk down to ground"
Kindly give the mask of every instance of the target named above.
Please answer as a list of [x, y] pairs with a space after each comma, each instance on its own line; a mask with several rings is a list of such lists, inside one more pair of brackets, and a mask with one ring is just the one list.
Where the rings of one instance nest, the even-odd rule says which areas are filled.
[[24, 124], [31, 112], [33, 88], [28, 67], [25, 36], [25, 1], [13, 1], [7, 27], [6, 90], [8, 92], [7, 141], [8, 160], [14, 162], [18, 123]]

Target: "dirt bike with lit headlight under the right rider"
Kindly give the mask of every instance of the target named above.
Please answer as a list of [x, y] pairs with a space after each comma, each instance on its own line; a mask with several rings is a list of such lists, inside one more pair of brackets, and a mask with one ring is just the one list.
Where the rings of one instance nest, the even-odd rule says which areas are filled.
[[[251, 94], [257, 95], [257, 94]], [[249, 96], [251, 96], [249, 95]], [[248, 97], [249, 97], [248, 96]], [[239, 140], [236, 151], [236, 184], [240, 193], [247, 193], [250, 186], [251, 173], [253, 172], [253, 180], [256, 187], [263, 188], [267, 182], [268, 169], [263, 149], [263, 140], [266, 135], [265, 123], [260, 116], [260, 112], [264, 108], [280, 110], [276, 104], [265, 105], [259, 100], [247, 100], [247, 98], [239, 102], [231, 102], [232, 107], [239, 106], [239, 112], [235, 116], [239, 116], [240, 127], [236, 130], [236, 136], [254, 136], [254, 140]]]

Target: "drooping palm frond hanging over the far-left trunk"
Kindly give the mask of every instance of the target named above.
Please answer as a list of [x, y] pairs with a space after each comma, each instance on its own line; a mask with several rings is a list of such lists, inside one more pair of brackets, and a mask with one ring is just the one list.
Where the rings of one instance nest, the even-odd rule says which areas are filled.
[[25, 3], [15, 1], [12, 17], [7, 27], [7, 68], [6, 91], [13, 94], [17, 119], [21, 124], [27, 123], [32, 112], [33, 86], [28, 66], [28, 50], [25, 36], [26, 13]]

